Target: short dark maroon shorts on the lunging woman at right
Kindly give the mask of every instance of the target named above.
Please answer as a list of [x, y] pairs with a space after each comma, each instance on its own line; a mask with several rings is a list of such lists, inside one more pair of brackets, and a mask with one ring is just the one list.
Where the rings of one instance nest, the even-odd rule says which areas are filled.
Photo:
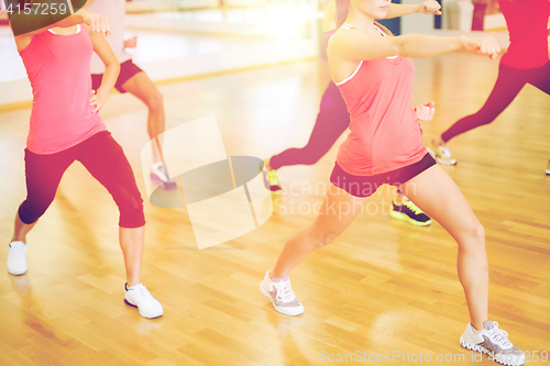
[[336, 163], [330, 182], [345, 190], [348, 193], [355, 197], [369, 197], [374, 195], [376, 189], [382, 185], [399, 186], [413, 179], [424, 170], [436, 165], [436, 160], [430, 154], [426, 154], [420, 162], [407, 165], [392, 171], [377, 174], [374, 176], [355, 176], [349, 174]]

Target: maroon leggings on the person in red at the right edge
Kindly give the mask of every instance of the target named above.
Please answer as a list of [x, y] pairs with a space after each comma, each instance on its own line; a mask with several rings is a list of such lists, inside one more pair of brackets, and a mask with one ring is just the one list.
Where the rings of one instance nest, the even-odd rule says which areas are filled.
[[448, 142], [461, 133], [493, 122], [512, 103], [526, 84], [550, 95], [550, 62], [544, 66], [528, 69], [518, 69], [501, 63], [498, 78], [482, 109], [475, 114], [457, 121], [441, 134], [441, 138]]

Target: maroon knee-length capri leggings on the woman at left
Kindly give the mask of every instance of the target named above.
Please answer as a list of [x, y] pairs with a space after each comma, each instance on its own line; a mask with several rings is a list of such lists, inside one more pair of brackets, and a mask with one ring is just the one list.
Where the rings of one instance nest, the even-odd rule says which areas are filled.
[[55, 154], [34, 154], [25, 148], [26, 200], [19, 207], [19, 218], [23, 223], [31, 224], [46, 212], [63, 174], [75, 160], [82, 163], [109, 190], [119, 207], [121, 228], [145, 224], [143, 200], [130, 163], [107, 131]]

